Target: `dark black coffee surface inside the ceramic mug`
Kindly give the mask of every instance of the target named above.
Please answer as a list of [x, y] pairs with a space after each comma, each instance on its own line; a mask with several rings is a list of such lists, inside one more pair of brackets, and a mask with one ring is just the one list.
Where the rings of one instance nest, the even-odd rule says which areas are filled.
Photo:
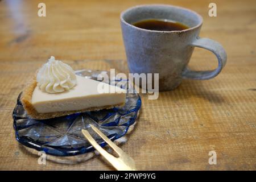
[[160, 20], [160, 19], [146, 19], [136, 23], [133, 23], [134, 26], [138, 28], [143, 28], [147, 30], [156, 30], [156, 31], [179, 31], [189, 28], [185, 24], [180, 22], [174, 22], [171, 20]]

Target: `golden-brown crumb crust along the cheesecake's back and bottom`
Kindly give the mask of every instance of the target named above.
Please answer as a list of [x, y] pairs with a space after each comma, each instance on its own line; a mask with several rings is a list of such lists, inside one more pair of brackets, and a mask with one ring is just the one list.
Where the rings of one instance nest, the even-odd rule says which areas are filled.
[[22, 96], [20, 98], [20, 101], [22, 102], [24, 109], [27, 111], [27, 114], [30, 115], [30, 117], [33, 119], [50, 119], [50, 118], [61, 117], [64, 115], [70, 115], [70, 114], [75, 114], [75, 113], [84, 113], [86, 111], [111, 109], [116, 106], [125, 105], [125, 103], [122, 103], [122, 104], [108, 105], [108, 106], [102, 106], [102, 107], [90, 107], [88, 109], [82, 109], [82, 110], [60, 111], [60, 112], [53, 112], [53, 113], [38, 113], [38, 111], [36, 111], [35, 108], [33, 107], [33, 105], [31, 104], [32, 94], [34, 92], [34, 89], [36, 88], [36, 85], [37, 85], [36, 77], [34, 77], [30, 81], [30, 84], [27, 84], [27, 86], [24, 89], [24, 91], [22, 92]]

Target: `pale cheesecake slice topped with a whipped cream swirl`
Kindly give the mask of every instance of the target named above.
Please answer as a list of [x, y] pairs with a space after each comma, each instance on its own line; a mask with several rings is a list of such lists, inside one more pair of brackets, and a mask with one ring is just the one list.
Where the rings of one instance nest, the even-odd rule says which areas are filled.
[[51, 56], [24, 89], [21, 101], [34, 119], [109, 109], [125, 104], [126, 90], [76, 75]]

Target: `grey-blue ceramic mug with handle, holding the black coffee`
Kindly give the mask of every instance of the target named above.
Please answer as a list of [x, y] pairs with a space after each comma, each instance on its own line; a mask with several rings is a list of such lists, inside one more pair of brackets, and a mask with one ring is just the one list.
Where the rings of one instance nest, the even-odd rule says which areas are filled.
[[[141, 5], [123, 11], [120, 18], [130, 73], [159, 73], [159, 91], [175, 89], [182, 78], [216, 77], [226, 64], [226, 52], [221, 44], [199, 37], [203, 18], [195, 11], [171, 5]], [[144, 19], [174, 20], [189, 28], [155, 31], [133, 26]], [[212, 71], [189, 69], [187, 65], [195, 47], [213, 52], [218, 68]]]

